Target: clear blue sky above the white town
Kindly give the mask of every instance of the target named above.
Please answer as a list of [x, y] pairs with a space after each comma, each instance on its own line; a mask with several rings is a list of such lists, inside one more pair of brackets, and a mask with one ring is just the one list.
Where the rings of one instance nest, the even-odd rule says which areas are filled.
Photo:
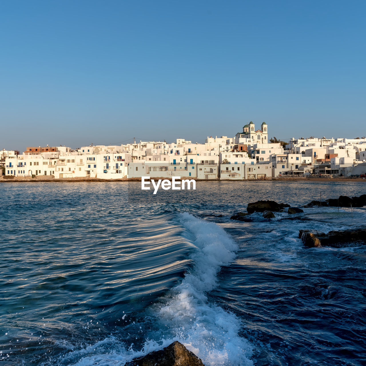
[[365, 1], [0, 2], [0, 148], [362, 137]]

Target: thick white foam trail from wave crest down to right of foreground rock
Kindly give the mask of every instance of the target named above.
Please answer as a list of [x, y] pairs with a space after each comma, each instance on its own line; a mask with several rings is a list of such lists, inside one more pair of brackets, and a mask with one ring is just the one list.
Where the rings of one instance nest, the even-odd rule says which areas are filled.
[[[197, 251], [192, 255], [194, 269], [173, 288], [172, 298], [158, 307], [156, 316], [175, 333], [189, 350], [208, 365], [253, 365], [252, 347], [238, 335], [240, 322], [234, 314], [210, 304], [206, 293], [217, 285], [220, 267], [235, 258], [238, 246], [217, 224], [184, 213], [180, 223], [194, 236]], [[171, 341], [169, 340], [169, 341]], [[169, 342], [164, 342], [169, 343]]]

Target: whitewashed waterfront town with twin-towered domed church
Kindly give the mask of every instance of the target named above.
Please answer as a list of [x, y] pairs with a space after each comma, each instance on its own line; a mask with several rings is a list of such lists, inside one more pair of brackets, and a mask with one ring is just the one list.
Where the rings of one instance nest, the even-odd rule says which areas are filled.
[[[205, 143], [140, 141], [126, 145], [27, 147], [23, 154], [1, 150], [0, 163], [9, 178], [99, 178], [142, 176], [189, 179], [266, 179], [279, 177], [363, 177], [366, 138], [268, 137], [268, 125], [253, 122], [234, 137], [207, 137]], [[5, 178], [5, 177], [4, 177]]]

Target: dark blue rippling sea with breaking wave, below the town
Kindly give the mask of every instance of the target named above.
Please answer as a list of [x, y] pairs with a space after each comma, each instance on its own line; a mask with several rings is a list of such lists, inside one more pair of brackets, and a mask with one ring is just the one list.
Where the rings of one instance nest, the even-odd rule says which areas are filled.
[[178, 340], [206, 366], [366, 365], [366, 246], [307, 248], [300, 229], [358, 228], [366, 208], [251, 222], [366, 183], [0, 185], [0, 363], [123, 366]]

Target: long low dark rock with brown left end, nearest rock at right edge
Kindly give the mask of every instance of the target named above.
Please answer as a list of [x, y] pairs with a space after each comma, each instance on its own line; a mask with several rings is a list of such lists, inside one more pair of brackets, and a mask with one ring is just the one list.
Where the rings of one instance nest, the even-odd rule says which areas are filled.
[[343, 231], [329, 231], [327, 234], [316, 230], [300, 230], [299, 238], [309, 248], [356, 246], [366, 244], [366, 227]]

